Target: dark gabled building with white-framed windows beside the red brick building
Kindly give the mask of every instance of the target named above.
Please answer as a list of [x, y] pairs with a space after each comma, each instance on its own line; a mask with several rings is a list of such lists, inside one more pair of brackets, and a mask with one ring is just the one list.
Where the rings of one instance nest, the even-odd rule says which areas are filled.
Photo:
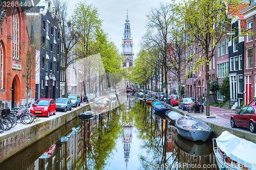
[[[27, 17], [35, 17], [34, 32], [40, 34], [36, 59], [36, 99], [59, 98], [60, 80], [60, 46], [61, 37], [56, 8], [46, 0], [43, 6], [27, 9]], [[27, 21], [27, 25], [28, 25]]]

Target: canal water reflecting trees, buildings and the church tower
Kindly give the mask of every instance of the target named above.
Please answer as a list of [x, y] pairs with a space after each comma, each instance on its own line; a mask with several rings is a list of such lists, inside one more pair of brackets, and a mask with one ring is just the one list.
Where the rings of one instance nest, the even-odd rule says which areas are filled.
[[0, 169], [217, 169], [212, 144], [191, 142], [134, 94], [35, 142]]

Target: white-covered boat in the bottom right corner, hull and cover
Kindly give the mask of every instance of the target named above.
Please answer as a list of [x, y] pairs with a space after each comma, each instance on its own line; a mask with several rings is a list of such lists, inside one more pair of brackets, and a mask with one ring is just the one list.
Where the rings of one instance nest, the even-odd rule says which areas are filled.
[[255, 170], [256, 143], [239, 138], [228, 131], [212, 139], [217, 164], [221, 170]]

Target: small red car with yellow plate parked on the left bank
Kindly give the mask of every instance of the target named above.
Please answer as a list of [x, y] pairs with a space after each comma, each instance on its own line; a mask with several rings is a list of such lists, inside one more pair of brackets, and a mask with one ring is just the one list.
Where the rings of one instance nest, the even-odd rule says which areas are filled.
[[56, 103], [54, 99], [37, 99], [30, 109], [35, 116], [47, 116], [56, 114]]

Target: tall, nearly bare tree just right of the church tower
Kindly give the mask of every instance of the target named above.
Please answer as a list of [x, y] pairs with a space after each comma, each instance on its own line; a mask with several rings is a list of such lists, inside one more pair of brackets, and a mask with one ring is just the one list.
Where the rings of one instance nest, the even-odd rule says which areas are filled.
[[[169, 45], [172, 43], [172, 36], [170, 29], [174, 25], [174, 18], [176, 14], [173, 12], [174, 6], [170, 4], [160, 4], [159, 8], [151, 9], [150, 14], [147, 15], [147, 32], [143, 36], [144, 46], [147, 49], [158, 48], [160, 56], [157, 56], [158, 62], [162, 64], [161, 71], [165, 83], [167, 83], [167, 56]], [[162, 86], [163, 87], [163, 86]], [[167, 94], [167, 88], [165, 92]]]

